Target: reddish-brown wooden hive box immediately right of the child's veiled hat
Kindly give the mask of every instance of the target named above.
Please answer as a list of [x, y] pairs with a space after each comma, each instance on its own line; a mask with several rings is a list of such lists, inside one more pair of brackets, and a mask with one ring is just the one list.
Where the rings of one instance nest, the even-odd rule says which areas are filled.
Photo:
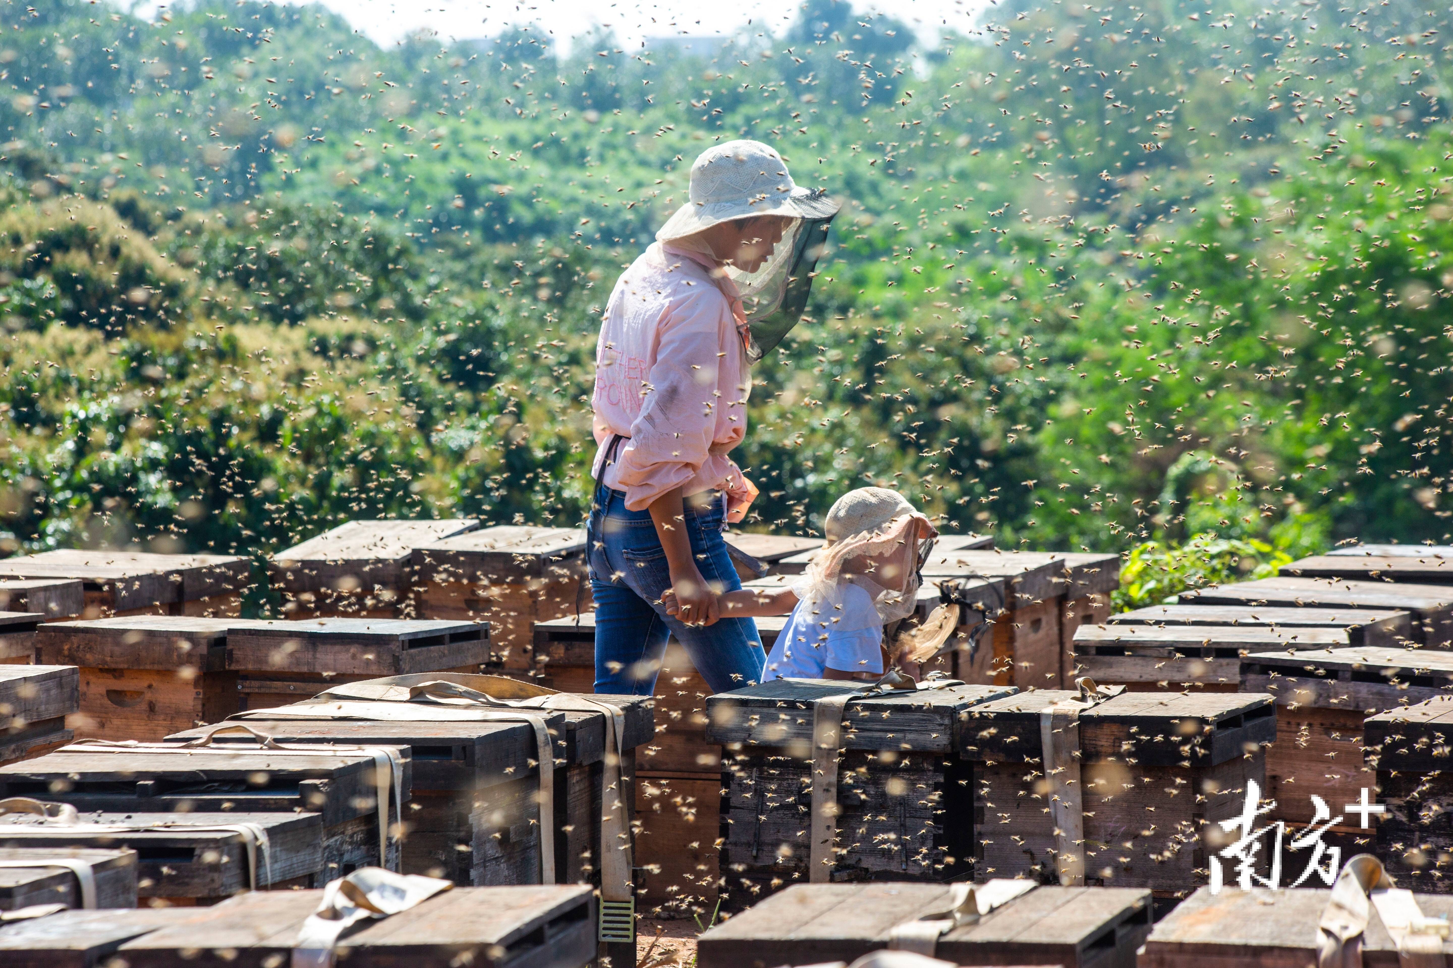
[[972, 662], [959, 655], [955, 678], [1021, 689], [1059, 686], [1061, 617], [1069, 588], [1062, 554], [936, 549], [923, 581], [950, 598], [984, 604], [994, 623]]

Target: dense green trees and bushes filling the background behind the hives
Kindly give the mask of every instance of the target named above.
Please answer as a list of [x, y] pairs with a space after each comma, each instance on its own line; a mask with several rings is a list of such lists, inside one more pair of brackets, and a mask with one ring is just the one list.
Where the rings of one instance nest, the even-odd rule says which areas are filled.
[[750, 527], [892, 483], [1001, 547], [1136, 549], [1126, 604], [1446, 540], [1449, 20], [1013, 0], [924, 38], [811, 0], [561, 55], [4, 0], [0, 541], [578, 522], [600, 309], [738, 136], [847, 200], [754, 372]]

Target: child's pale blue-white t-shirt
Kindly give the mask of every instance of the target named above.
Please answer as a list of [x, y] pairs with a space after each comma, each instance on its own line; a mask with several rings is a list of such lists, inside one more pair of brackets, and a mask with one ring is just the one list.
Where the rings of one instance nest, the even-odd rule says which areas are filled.
[[882, 640], [883, 620], [873, 599], [857, 585], [840, 582], [833, 598], [798, 602], [767, 653], [763, 678], [821, 679], [828, 666], [882, 675]]

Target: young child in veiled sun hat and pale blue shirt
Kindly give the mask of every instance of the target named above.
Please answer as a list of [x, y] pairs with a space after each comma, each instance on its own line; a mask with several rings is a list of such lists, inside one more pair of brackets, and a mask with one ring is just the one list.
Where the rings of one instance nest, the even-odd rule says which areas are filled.
[[[719, 598], [724, 618], [792, 611], [767, 655], [764, 679], [876, 679], [883, 673], [883, 625], [917, 607], [918, 570], [937, 531], [902, 495], [850, 491], [827, 512], [822, 531], [827, 543], [802, 581]], [[670, 591], [661, 601], [676, 614]]]

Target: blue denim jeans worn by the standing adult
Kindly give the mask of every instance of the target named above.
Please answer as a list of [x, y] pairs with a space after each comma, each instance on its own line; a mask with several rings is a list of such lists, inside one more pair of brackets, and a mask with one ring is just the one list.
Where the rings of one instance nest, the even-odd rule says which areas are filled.
[[[741, 579], [726, 554], [722, 527], [721, 492], [686, 499], [696, 567], [718, 592], [734, 592]], [[767, 656], [751, 618], [724, 618], [703, 628], [683, 624], [660, 605], [671, 572], [649, 511], [626, 511], [625, 493], [597, 488], [587, 543], [596, 596], [596, 692], [654, 694], [670, 636], [686, 647], [712, 692], [761, 681]]]

